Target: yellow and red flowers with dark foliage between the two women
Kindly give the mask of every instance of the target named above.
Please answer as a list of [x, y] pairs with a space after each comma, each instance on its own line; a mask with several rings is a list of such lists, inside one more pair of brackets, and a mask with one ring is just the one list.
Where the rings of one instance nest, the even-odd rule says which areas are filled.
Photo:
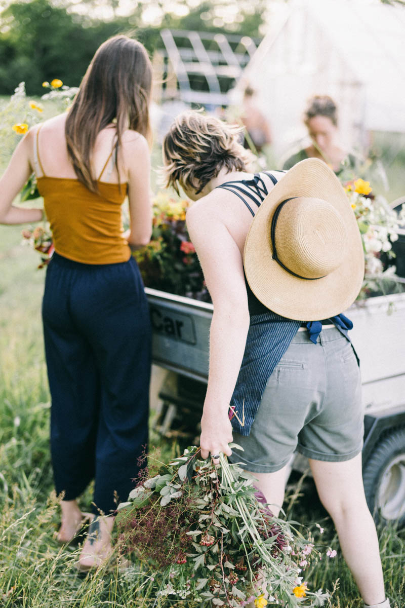
[[147, 287], [209, 302], [209, 294], [186, 229], [189, 202], [159, 192], [153, 200], [151, 242], [134, 252]]

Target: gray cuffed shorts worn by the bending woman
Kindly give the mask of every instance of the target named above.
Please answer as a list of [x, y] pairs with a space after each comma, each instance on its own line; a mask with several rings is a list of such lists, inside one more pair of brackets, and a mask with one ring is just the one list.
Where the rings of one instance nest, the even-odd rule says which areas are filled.
[[364, 411], [353, 347], [336, 328], [313, 344], [298, 331], [267, 381], [250, 435], [234, 432], [232, 462], [252, 472], [279, 471], [294, 451], [339, 462], [362, 448]]

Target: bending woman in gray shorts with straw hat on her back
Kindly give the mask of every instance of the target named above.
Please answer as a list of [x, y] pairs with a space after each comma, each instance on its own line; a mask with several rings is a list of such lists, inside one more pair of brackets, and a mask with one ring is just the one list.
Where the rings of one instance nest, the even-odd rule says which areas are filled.
[[197, 201], [186, 222], [214, 304], [201, 454], [242, 462], [275, 514], [291, 455], [307, 455], [366, 606], [387, 608], [362, 485], [358, 361], [340, 314], [364, 273], [355, 216], [324, 162], [251, 174], [236, 136], [190, 112], [163, 144], [167, 185]]

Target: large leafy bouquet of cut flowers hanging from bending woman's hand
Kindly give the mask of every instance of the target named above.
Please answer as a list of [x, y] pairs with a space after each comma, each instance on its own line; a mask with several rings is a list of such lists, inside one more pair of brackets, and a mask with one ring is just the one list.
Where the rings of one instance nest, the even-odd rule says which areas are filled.
[[321, 559], [312, 537], [261, 500], [252, 475], [223, 454], [219, 466], [202, 460], [192, 446], [158, 474], [146, 472], [118, 505], [118, 547], [154, 565], [157, 598], [207, 608], [323, 606], [329, 594], [300, 576], [300, 564]]

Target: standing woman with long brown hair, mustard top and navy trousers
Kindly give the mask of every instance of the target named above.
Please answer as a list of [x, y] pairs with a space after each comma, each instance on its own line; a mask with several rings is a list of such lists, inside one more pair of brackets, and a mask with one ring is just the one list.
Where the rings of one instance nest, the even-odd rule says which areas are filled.
[[[43, 299], [51, 451], [61, 497], [60, 542], [83, 522], [77, 503], [94, 478], [78, 565], [111, 555], [117, 500], [126, 500], [148, 442], [150, 326], [131, 246], [151, 237], [152, 67], [142, 44], [114, 36], [97, 50], [67, 114], [33, 127], [0, 181], [0, 222], [39, 221], [14, 206], [34, 171], [55, 254]], [[122, 230], [128, 195], [130, 228]]]

